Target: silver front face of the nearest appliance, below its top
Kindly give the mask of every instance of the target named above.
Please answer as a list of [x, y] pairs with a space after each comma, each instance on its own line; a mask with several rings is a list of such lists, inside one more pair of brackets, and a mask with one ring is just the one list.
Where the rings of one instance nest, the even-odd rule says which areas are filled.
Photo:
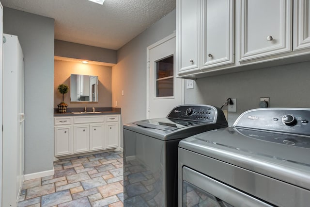
[[[184, 167], [192, 169], [193, 171], [203, 174], [211, 179], [217, 180], [224, 186], [230, 186], [232, 189], [244, 192], [250, 197], [262, 201], [264, 204], [281, 206], [281, 207], [305, 207], [310, 203], [310, 190], [300, 188], [295, 185], [288, 184], [281, 180], [271, 178], [260, 173], [246, 170], [237, 165], [228, 162], [220, 161], [210, 156], [204, 156], [196, 152], [192, 152], [179, 147], [179, 206], [182, 206], [182, 198], [184, 196], [183, 181], [192, 183], [200, 189], [211, 194], [208, 186], [200, 186], [197, 181], [189, 178], [184, 178], [182, 170]], [[234, 159], [234, 157], [232, 158]], [[309, 178], [308, 178], [309, 179]], [[202, 181], [200, 181], [202, 182]], [[229, 191], [228, 191], [229, 192]], [[223, 195], [227, 194], [223, 190]], [[219, 196], [219, 195], [217, 195]], [[235, 197], [233, 202], [220, 197], [223, 201], [235, 207], [243, 206], [244, 200]], [[237, 202], [237, 203], [235, 203]], [[250, 207], [263, 207], [265, 205], [253, 205]]]

